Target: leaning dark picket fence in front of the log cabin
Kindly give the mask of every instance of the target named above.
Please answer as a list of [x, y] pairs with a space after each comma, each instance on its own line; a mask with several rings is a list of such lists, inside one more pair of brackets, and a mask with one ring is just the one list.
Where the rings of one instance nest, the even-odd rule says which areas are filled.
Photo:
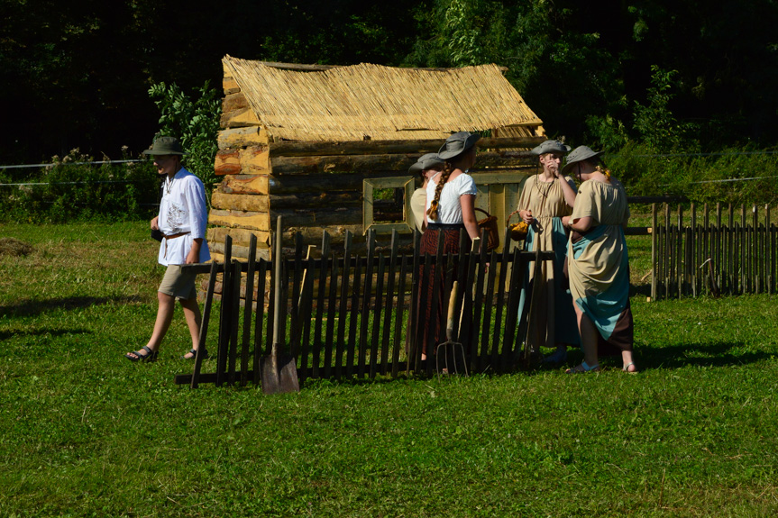
[[[369, 232], [366, 252], [360, 256], [352, 251], [351, 233], [346, 234], [338, 254], [331, 250], [325, 233], [321, 257], [315, 259], [303, 250], [297, 234], [293, 253], [282, 259], [283, 281], [274, 286], [269, 275], [273, 265], [256, 259], [256, 241], [250, 245], [249, 260], [237, 261], [231, 257], [232, 241], [227, 236], [224, 263], [186, 267], [210, 276], [200, 347], [206, 347], [212, 358], [215, 353], [215, 361], [203, 363], [198, 358], [193, 373], [178, 375], [176, 383], [192, 387], [200, 383], [259, 385], [260, 362], [270, 355], [276, 311], [283, 312], [279, 344], [296, 358], [301, 381], [431, 376], [436, 372], [435, 357], [430, 354], [430, 360], [421, 359], [425, 326], [417, 318], [417, 308], [426, 304], [427, 290], [420, 290], [419, 285], [429, 265], [445, 268], [445, 276], [435, 276], [433, 301], [439, 290], [448, 294], [454, 280], [461, 286], [462, 296], [454, 311], [454, 341], [463, 345], [468, 370], [506, 372], [521, 366], [526, 361], [521, 347], [531, 305], [526, 304], [524, 314], [518, 314], [521, 286], [527, 269], [539, 260], [553, 259], [553, 252], [535, 254], [515, 246], [505, 247], [502, 253], [472, 252], [462, 247], [459, 254], [420, 255], [420, 237], [416, 232], [413, 250], [401, 253], [397, 232], [386, 248], [376, 246], [375, 233]], [[462, 232], [462, 243], [464, 237]], [[503, 242], [511, 242], [508, 232]], [[443, 250], [442, 242], [438, 250]], [[222, 295], [218, 339], [212, 344], [206, 343], [206, 337], [217, 282], [221, 282]], [[279, 308], [273, 304], [276, 289], [282, 290], [284, 301]], [[266, 309], [267, 290], [270, 303]], [[446, 314], [447, 307], [443, 310]], [[202, 372], [203, 367], [215, 370]]]

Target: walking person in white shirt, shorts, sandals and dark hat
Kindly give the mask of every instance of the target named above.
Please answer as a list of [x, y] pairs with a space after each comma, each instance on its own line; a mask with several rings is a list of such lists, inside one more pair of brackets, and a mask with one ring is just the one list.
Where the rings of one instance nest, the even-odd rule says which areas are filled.
[[[182, 271], [181, 265], [211, 259], [206, 242], [206, 189], [199, 178], [181, 166], [181, 157], [186, 153], [178, 139], [160, 137], [143, 154], [154, 158], [157, 173], [164, 176], [160, 213], [151, 220], [151, 229], [162, 233], [158, 260], [167, 270], [157, 292], [160, 305], [151, 339], [141, 350], [128, 352], [124, 356], [130, 361], [157, 359], [160, 343], [168, 332], [178, 299], [192, 337], [192, 349], [182, 358], [193, 359], [197, 354], [200, 331], [196, 274]], [[207, 357], [207, 351], [202, 351], [201, 357]]]

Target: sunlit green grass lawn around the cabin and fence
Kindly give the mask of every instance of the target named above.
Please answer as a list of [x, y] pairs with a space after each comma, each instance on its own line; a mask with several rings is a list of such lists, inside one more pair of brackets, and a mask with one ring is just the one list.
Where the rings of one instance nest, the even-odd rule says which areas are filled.
[[123, 358], [156, 314], [148, 233], [0, 225], [33, 247], [0, 257], [0, 516], [778, 514], [775, 296], [636, 286], [636, 376], [192, 391], [180, 313], [160, 361]]

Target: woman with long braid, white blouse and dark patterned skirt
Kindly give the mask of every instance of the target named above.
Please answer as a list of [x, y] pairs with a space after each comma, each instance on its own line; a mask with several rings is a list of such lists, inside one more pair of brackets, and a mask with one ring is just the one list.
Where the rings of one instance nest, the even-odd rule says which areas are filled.
[[[426, 186], [426, 232], [421, 241], [422, 254], [435, 256], [441, 233], [444, 234], [443, 252], [449, 254], [459, 253], [462, 229], [469, 238], [467, 243], [479, 237], [478, 221], [475, 217], [475, 196], [478, 191], [475, 181], [467, 171], [475, 164], [475, 142], [480, 138], [479, 135], [469, 132], [457, 132], [446, 139], [438, 151], [438, 157], [444, 160], [444, 168], [432, 177]], [[439, 272], [439, 277], [443, 279], [443, 268], [439, 268]], [[427, 290], [427, 304], [425, 308], [420, 308], [424, 313], [421, 314], [422, 318], [418, 319], [425, 326], [422, 359], [426, 359], [428, 352], [426, 345], [430, 340], [430, 326], [435, 330], [431, 341], [433, 345], [440, 341], [445, 328], [443, 308], [444, 300], [448, 297], [439, 289], [437, 304], [433, 304], [434, 280], [435, 267], [427, 267], [426, 278], [422, 279], [421, 283], [422, 289]], [[437, 308], [435, 314], [432, 314], [433, 305]]]

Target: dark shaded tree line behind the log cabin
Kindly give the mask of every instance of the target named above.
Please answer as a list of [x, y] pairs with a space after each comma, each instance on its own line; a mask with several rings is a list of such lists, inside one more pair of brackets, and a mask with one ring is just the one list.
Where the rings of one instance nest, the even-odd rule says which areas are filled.
[[722, 0], [4, 0], [0, 163], [113, 157], [160, 125], [153, 86], [221, 86], [221, 58], [497, 63], [547, 134], [618, 150], [772, 146], [778, 5]]

